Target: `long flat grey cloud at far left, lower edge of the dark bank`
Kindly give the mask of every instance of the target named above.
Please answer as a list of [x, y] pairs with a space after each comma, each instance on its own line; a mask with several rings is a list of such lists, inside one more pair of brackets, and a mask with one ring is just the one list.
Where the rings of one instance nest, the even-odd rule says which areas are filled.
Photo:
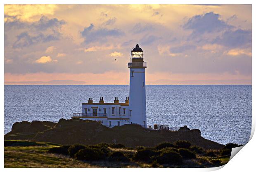
[[44, 35], [39, 33], [36, 36], [31, 36], [27, 32], [23, 32], [17, 36], [17, 40], [14, 42], [14, 48], [28, 47], [39, 42], [49, 42], [52, 40], [59, 40], [58, 35]]

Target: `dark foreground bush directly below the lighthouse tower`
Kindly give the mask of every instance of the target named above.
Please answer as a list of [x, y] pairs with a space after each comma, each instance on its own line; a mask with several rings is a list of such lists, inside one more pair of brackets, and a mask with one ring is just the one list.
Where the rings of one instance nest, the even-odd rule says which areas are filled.
[[145, 162], [151, 162], [152, 157], [157, 155], [159, 155], [157, 151], [154, 151], [151, 148], [143, 148], [143, 149], [137, 150], [137, 152], [134, 154], [133, 159], [141, 160]]

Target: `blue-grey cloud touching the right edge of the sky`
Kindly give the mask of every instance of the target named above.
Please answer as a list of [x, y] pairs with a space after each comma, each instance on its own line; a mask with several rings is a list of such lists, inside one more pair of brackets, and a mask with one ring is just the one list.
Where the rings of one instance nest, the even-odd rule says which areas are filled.
[[251, 47], [251, 30], [237, 29], [235, 31], [226, 31], [221, 37], [213, 40], [213, 43], [224, 45], [226, 47]]

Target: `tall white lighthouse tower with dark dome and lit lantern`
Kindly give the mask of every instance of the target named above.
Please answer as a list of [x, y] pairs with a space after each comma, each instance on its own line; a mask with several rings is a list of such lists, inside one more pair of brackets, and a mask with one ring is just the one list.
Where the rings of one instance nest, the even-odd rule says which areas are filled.
[[145, 89], [145, 68], [147, 65], [143, 59], [143, 51], [138, 44], [131, 51], [128, 67], [130, 68], [130, 121], [147, 127]]

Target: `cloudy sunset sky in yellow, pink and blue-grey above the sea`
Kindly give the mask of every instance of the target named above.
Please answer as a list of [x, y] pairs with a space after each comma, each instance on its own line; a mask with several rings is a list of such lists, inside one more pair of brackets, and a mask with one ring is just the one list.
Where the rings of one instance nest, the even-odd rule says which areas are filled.
[[251, 85], [251, 5], [5, 5], [5, 84]]

